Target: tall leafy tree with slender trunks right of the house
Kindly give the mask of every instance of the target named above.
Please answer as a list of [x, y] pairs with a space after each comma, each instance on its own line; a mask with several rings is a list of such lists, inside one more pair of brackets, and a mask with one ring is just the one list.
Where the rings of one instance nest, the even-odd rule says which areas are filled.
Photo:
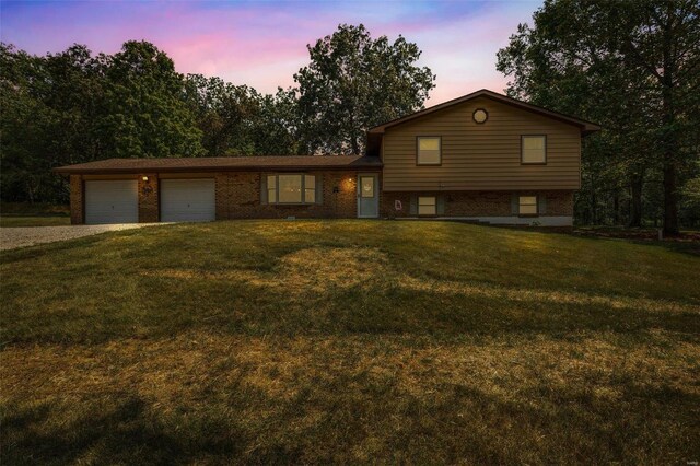
[[604, 126], [621, 150], [606, 155], [625, 167], [632, 206], [645, 173], [662, 172], [667, 234], [678, 232], [679, 171], [698, 156], [686, 141], [698, 131], [699, 13], [696, 0], [550, 0], [498, 56], [514, 78], [510, 93]]

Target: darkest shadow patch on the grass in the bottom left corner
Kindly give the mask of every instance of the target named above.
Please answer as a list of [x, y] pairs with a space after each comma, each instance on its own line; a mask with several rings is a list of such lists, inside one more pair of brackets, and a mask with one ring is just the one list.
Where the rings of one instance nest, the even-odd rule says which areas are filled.
[[[11, 409], [3, 420], [3, 463], [74, 464], [97, 459], [110, 464], [171, 464], [242, 453], [243, 442], [232, 432], [234, 427], [222, 420], [207, 417], [199, 419], [199, 431], [179, 430], [153, 419], [151, 407], [139, 398], [127, 395], [125, 399], [113, 397], [106, 401], [114, 404], [75, 400], [70, 406], [57, 406], [45, 401]], [[74, 419], [75, 416], [80, 417]], [[73, 419], [60, 422], [63, 417]]]

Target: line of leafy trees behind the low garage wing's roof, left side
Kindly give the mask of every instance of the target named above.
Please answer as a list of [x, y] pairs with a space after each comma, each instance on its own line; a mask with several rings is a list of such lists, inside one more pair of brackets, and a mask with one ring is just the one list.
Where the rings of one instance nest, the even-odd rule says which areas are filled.
[[46, 56], [0, 44], [1, 198], [66, 202], [51, 168], [108, 158], [361, 154], [366, 128], [423, 108], [434, 88], [401, 36], [342, 24], [307, 48], [296, 85], [262, 94], [180, 74], [148, 42]]

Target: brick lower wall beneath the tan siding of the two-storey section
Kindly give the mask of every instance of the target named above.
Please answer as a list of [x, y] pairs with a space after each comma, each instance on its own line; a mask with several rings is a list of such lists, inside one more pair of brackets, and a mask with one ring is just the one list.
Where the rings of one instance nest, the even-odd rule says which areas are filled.
[[[540, 217], [573, 215], [573, 191], [518, 191], [524, 196], [545, 196], [546, 212]], [[381, 203], [382, 217], [416, 217], [410, 213], [411, 196], [417, 193], [384, 193]], [[445, 201], [444, 217], [510, 217], [512, 193], [510, 191], [442, 191], [420, 193], [424, 196], [443, 196]], [[401, 202], [401, 210], [396, 210], [395, 201]]]

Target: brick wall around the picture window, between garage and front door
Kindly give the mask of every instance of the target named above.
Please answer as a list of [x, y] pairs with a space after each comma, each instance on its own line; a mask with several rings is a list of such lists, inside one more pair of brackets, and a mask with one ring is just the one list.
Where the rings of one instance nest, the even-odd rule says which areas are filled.
[[323, 177], [323, 203], [261, 203], [261, 176], [267, 173], [217, 174], [217, 219], [355, 218], [357, 172], [306, 172]]

